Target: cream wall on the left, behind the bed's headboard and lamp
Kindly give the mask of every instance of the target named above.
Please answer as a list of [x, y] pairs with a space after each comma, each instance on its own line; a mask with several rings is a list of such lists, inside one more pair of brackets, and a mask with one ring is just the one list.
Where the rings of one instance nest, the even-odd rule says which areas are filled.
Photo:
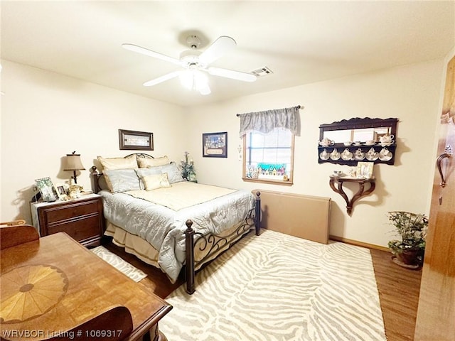
[[62, 171], [67, 153], [81, 154], [86, 171], [77, 183], [90, 189], [89, 170], [98, 155], [129, 154], [119, 150], [118, 129], [151, 131], [151, 155], [181, 158], [181, 107], [6, 60], [1, 65], [0, 221], [31, 222], [34, 180], [68, 180], [72, 172]]

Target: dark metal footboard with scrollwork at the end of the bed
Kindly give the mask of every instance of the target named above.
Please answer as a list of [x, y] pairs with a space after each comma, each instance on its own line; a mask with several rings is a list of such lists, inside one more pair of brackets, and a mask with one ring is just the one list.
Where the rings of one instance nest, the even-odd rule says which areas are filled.
[[[191, 220], [186, 221], [185, 230], [185, 246], [186, 246], [186, 292], [190, 295], [196, 291], [194, 277], [196, 269], [202, 264], [207, 263], [213, 259], [223, 249], [228, 249], [229, 244], [236, 242], [240, 237], [247, 231], [255, 227], [256, 235], [259, 236], [261, 230], [261, 193], [257, 192], [255, 197], [255, 207], [248, 212], [245, 220], [240, 224], [235, 231], [231, 232], [226, 236], [220, 236], [216, 234], [202, 234], [195, 232], [191, 227], [193, 222]], [[196, 236], [196, 241], [195, 241]], [[203, 252], [203, 257], [195, 261], [194, 251], [196, 244], [198, 244], [198, 251]]]

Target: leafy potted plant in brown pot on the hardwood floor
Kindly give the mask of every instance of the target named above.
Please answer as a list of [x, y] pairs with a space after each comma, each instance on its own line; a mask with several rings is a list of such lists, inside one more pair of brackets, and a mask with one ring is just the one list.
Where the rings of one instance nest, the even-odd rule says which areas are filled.
[[388, 212], [388, 217], [400, 237], [388, 243], [390, 251], [396, 256], [396, 263], [407, 267], [422, 265], [428, 218], [405, 211]]

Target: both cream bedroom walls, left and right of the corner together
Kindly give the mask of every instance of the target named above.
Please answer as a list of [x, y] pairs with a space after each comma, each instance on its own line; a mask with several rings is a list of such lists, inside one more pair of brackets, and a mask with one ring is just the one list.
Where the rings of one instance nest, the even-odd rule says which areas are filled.
[[[387, 211], [429, 212], [442, 60], [189, 109], [16, 63], [1, 63], [6, 94], [1, 97], [0, 220], [29, 218], [34, 179], [50, 176], [62, 182], [69, 178], [60, 165], [66, 153], [81, 153], [87, 169], [97, 155], [126, 155], [119, 151], [117, 129], [154, 132], [154, 156], [167, 154], [178, 161], [183, 151], [189, 151], [202, 183], [331, 197], [330, 233], [339, 237], [385, 246], [392, 239]], [[244, 183], [237, 157], [240, 139], [235, 114], [297, 104], [304, 109], [301, 136], [296, 137], [294, 185]], [[316, 146], [320, 124], [352, 117], [397, 117], [400, 122], [395, 166], [375, 166], [375, 192], [357, 202], [349, 217], [341, 196], [328, 187], [328, 175], [347, 167], [319, 164]], [[228, 158], [202, 158], [201, 134], [215, 131], [228, 131]], [[83, 171], [79, 179], [90, 187], [88, 174]]]

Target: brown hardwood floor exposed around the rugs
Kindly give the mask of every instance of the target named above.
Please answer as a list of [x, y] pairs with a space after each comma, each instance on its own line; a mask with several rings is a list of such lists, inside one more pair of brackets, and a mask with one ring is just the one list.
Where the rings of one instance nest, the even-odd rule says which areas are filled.
[[[148, 276], [139, 283], [151, 288], [161, 298], [166, 298], [183, 283], [183, 278], [178, 278], [176, 283], [171, 284], [161, 270], [148, 266], [136, 256], [125, 253], [123, 249], [112, 243], [105, 244], [105, 247], [144, 271]], [[412, 341], [422, 270], [410, 270], [397, 266], [392, 262], [390, 252], [377, 249], [370, 249], [370, 251], [378, 283], [387, 341]]]

